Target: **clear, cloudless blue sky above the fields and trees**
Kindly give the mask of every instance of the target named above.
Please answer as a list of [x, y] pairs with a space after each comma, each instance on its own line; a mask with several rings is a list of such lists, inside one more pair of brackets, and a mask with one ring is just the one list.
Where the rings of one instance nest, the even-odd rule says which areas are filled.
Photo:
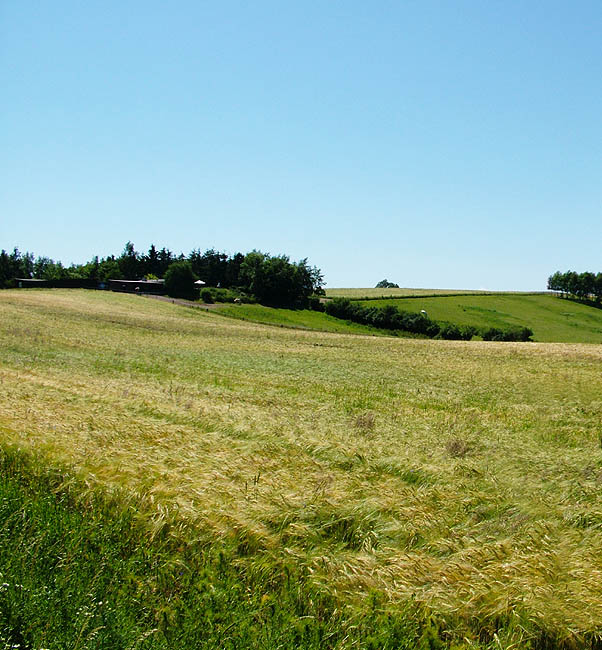
[[0, 248], [602, 271], [602, 2], [3, 0]]

